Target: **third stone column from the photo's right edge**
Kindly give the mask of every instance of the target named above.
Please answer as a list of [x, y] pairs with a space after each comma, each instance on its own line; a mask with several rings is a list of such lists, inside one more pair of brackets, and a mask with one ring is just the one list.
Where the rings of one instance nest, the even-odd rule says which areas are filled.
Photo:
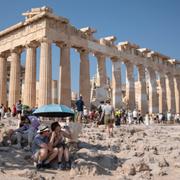
[[166, 78], [164, 74], [159, 73], [159, 112], [167, 111]]

